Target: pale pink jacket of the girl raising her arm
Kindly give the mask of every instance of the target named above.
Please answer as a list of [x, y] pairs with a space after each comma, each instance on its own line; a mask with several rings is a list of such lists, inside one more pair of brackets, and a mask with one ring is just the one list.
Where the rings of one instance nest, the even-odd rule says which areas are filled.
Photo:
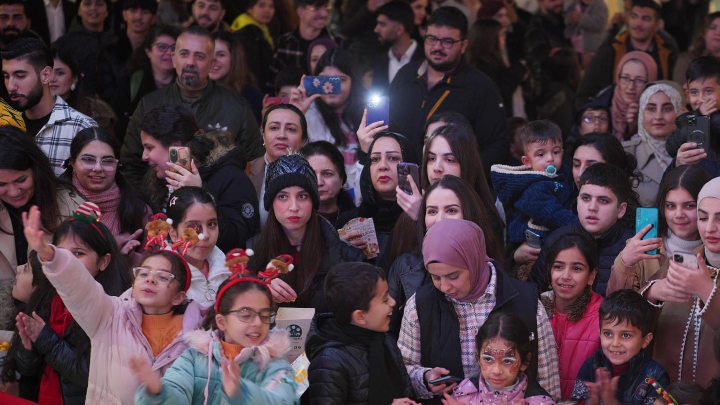
[[102, 285], [66, 249], [55, 248], [53, 260], [42, 262], [42, 271], [90, 337], [92, 352], [85, 404], [133, 404], [140, 384], [133, 378], [128, 364], [130, 356], [148, 356], [153, 370], [163, 374], [187, 348], [183, 334], [198, 329], [202, 322], [199, 306], [190, 303], [178, 336], [158, 357], [153, 357], [140, 328], [143, 310], [132, 298], [132, 288], [120, 297], [106, 295]]

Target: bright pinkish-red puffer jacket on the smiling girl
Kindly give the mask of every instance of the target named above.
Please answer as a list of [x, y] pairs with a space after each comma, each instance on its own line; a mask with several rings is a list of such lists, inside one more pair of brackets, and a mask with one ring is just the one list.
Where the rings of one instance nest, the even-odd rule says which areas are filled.
[[[553, 300], [552, 291], [543, 294]], [[557, 358], [560, 370], [560, 392], [562, 400], [570, 399], [572, 386], [582, 362], [600, 348], [600, 303], [603, 297], [593, 293], [582, 318], [577, 322], [568, 320], [567, 313], [555, 311], [550, 318], [552, 334], [557, 344]]]

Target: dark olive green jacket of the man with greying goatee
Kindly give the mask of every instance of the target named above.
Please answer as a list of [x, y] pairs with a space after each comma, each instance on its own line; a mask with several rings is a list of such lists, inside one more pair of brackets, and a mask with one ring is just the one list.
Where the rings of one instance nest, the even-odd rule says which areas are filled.
[[[148, 164], [143, 161], [143, 144], [140, 142], [140, 123], [145, 114], [159, 104], [181, 104], [183, 99], [176, 83], [146, 94], [140, 100], [138, 108], [130, 117], [127, 125], [125, 141], [122, 144], [120, 161], [124, 167], [122, 174], [140, 186], [143, 175], [148, 171]], [[198, 102], [184, 104], [194, 113], [198, 128], [207, 129], [216, 125], [227, 127], [235, 135], [235, 142], [245, 154], [246, 161], [255, 159], [265, 153], [262, 146], [262, 135], [253, 111], [240, 94], [216, 84], [208, 79]], [[245, 164], [246, 162], [243, 162]]]

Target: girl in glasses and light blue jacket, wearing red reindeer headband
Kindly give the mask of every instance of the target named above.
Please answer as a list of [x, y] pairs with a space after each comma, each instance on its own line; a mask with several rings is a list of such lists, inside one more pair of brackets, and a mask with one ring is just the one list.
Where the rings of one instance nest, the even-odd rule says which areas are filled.
[[272, 297], [263, 280], [233, 275], [220, 286], [215, 311], [188, 334], [189, 349], [159, 378], [138, 358], [143, 386], [135, 404], [294, 404], [294, 373], [284, 355], [288, 332], [270, 330]]

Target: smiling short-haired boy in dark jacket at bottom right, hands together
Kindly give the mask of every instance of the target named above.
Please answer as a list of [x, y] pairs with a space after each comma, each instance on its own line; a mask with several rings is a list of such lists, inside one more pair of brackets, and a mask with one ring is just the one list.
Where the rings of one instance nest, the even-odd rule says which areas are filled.
[[665, 369], [652, 360], [652, 306], [634, 290], [617, 290], [600, 304], [600, 349], [582, 363], [572, 399], [586, 405], [650, 405], [652, 380], [666, 387]]

